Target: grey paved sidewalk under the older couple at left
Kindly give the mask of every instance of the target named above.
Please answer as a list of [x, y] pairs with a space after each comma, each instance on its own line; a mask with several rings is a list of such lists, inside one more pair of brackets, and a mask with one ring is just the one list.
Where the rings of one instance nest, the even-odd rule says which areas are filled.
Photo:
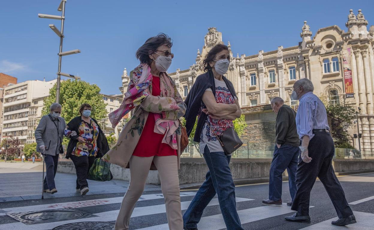
[[[40, 199], [42, 197], [42, 163], [0, 162], [0, 202]], [[80, 196], [76, 192], [76, 175], [57, 173], [57, 193], [44, 193], [44, 198]], [[129, 185], [125, 180], [98, 182], [88, 180], [90, 191], [87, 195], [124, 193]], [[144, 191], [161, 190], [159, 185], [146, 184]]]

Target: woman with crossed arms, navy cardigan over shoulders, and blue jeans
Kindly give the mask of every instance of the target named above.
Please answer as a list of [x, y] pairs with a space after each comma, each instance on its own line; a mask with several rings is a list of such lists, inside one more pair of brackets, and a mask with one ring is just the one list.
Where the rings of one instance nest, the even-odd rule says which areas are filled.
[[200, 143], [209, 171], [190, 206], [183, 215], [184, 229], [195, 230], [205, 207], [217, 194], [228, 230], [243, 229], [236, 211], [235, 186], [230, 171], [231, 155], [225, 155], [218, 138], [233, 120], [240, 117], [240, 106], [233, 84], [225, 77], [230, 65], [226, 45], [215, 45], [203, 61], [205, 73], [199, 75], [186, 98], [186, 130], [190, 135], [196, 116], [194, 141]]

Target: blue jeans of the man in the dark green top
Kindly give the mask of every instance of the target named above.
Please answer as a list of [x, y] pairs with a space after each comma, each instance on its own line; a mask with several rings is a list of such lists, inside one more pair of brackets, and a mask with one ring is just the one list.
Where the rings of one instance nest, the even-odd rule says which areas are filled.
[[289, 193], [292, 201], [296, 194], [296, 169], [300, 149], [292, 145], [275, 145], [273, 161], [270, 166], [269, 199], [279, 201], [282, 198], [282, 174], [287, 169]]

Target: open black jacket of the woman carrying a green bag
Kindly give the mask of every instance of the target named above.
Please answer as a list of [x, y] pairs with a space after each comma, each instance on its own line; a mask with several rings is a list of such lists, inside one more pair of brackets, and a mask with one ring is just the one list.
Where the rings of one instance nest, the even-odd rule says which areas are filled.
[[[91, 117], [91, 119], [99, 127], [99, 135], [98, 135], [97, 140], [96, 140], [96, 144], [97, 144], [97, 148], [98, 148], [96, 158], [101, 158], [102, 156], [104, 156], [104, 154], [106, 154], [109, 151], [108, 141], [107, 141], [107, 138], [106, 138], [105, 134], [102, 132], [102, 130], [99, 126], [99, 123], [96, 122], [96, 120], [93, 119], [92, 117]], [[80, 126], [81, 121], [82, 121], [81, 116], [74, 117], [73, 119], [71, 119], [71, 121], [67, 125], [71, 131], [77, 132], [76, 136], [70, 135], [70, 141], [69, 141], [69, 144], [68, 144], [66, 157], [65, 157], [67, 159], [69, 159], [69, 157], [71, 155], [71, 152], [73, 152], [74, 147], [77, 146], [77, 143], [78, 143], [77, 139], [79, 137], [79, 126]]]

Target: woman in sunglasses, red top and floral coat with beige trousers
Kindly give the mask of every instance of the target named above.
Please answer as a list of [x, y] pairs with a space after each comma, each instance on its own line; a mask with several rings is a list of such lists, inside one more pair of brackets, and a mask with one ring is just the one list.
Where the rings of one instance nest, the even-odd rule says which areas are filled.
[[149, 38], [138, 49], [140, 66], [130, 73], [128, 91], [120, 108], [109, 114], [115, 127], [133, 110], [133, 115], [120, 133], [117, 144], [102, 159], [130, 166], [130, 184], [123, 197], [115, 230], [129, 229], [136, 202], [143, 193], [150, 168], [159, 171], [165, 198], [169, 229], [182, 230], [183, 219], [178, 179], [181, 127], [184, 104], [177, 86], [166, 74], [174, 54], [166, 34]]

